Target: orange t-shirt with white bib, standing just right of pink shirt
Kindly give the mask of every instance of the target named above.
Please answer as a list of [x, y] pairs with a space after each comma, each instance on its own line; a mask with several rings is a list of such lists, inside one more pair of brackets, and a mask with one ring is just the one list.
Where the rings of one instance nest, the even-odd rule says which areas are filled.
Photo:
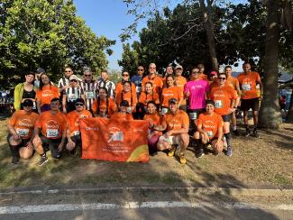
[[231, 86], [214, 87], [209, 95], [215, 102], [215, 113], [228, 115], [231, 107], [231, 99], [237, 98], [237, 93]]

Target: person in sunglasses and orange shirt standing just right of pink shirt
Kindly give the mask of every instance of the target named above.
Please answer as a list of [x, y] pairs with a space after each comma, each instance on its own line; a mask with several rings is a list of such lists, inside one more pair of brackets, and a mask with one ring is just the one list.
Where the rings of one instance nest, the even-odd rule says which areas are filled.
[[233, 87], [226, 85], [226, 80], [227, 75], [225, 73], [220, 73], [218, 75], [219, 86], [214, 87], [209, 96], [215, 102], [215, 113], [221, 115], [224, 120], [224, 137], [227, 142], [226, 155], [231, 157], [230, 115], [236, 110], [235, 101], [237, 94]]

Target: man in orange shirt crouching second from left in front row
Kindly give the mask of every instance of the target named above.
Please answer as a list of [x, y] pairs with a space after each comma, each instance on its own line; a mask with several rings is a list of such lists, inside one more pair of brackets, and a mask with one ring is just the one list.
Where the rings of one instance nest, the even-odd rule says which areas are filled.
[[60, 99], [55, 97], [50, 100], [50, 111], [42, 113], [34, 126], [35, 136], [32, 143], [35, 150], [41, 155], [39, 166], [48, 161], [46, 156], [48, 147], [52, 157], [60, 159], [67, 129], [66, 115], [60, 113]]

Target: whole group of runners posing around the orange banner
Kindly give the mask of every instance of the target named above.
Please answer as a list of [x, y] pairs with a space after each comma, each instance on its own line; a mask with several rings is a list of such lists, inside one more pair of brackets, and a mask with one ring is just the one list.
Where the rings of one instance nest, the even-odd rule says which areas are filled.
[[[215, 154], [223, 151], [232, 156], [230, 123], [239, 135], [235, 110], [241, 102], [245, 136], [258, 137], [259, 99], [262, 97], [260, 75], [243, 64], [243, 73], [233, 78], [232, 67], [224, 72], [205, 74], [203, 64], [190, 69], [188, 78], [182, 76], [183, 67], [166, 68], [163, 77], [151, 63], [147, 73], [142, 66], [131, 78], [122, 72], [116, 85], [109, 80], [106, 70], [100, 78], [86, 69], [82, 78], [66, 67], [57, 86], [44, 69], [29, 72], [25, 82], [14, 89], [14, 115], [8, 123], [7, 142], [12, 151], [12, 162], [29, 159], [36, 151], [41, 166], [48, 161], [46, 151], [60, 159], [64, 150], [75, 154], [81, 146], [78, 121], [85, 117], [114, 117], [126, 121], [136, 119], [149, 123], [150, 154], [167, 151], [173, 157], [179, 149], [179, 162], [185, 164], [189, 137], [197, 142], [197, 157], [204, 155], [210, 145]], [[260, 85], [260, 90], [257, 89]], [[253, 130], [248, 125], [248, 111], [252, 108]], [[225, 142], [225, 144], [224, 144]]]

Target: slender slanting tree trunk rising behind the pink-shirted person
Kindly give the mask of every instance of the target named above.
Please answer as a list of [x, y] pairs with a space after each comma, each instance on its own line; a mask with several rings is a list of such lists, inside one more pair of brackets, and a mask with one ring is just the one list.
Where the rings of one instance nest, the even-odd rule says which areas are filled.
[[213, 70], [218, 70], [218, 62], [216, 59], [215, 51], [215, 32], [214, 32], [214, 23], [212, 21], [212, 5], [211, 1], [207, 0], [207, 6], [205, 5], [205, 0], [200, 0], [200, 8], [203, 14], [203, 21], [206, 28], [206, 39], [208, 44], [208, 50], [211, 57]]

